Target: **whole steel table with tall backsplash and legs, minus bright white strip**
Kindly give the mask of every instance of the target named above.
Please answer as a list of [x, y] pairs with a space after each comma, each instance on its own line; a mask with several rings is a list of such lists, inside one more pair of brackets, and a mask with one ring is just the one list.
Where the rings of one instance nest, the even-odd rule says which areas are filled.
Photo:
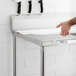
[[[65, 13], [64, 13], [65, 14]], [[23, 34], [17, 32], [17, 30], [30, 30], [30, 29], [44, 29], [44, 28], [55, 28], [58, 23], [61, 21], [72, 18], [70, 14], [43, 14], [43, 15], [19, 15], [11, 16], [11, 31], [13, 32], [13, 76], [16, 76], [16, 37], [28, 40], [32, 43], [35, 43], [41, 47], [40, 56], [41, 56], [41, 76], [45, 74], [44, 67], [44, 47], [59, 45], [63, 43], [73, 43], [76, 41], [76, 35], [72, 34], [67, 37], [62, 37], [56, 34], [47, 34], [47, 35], [38, 35], [33, 33]], [[52, 30], [52, 29], [51, 29]], [[74, 27], [73, 31], [76, 30]], [[60, 30], [57, 30], [60, 32]], [[54, 30], [54, 32], [57, 32]], [[44, 31], [43, 31], [44, 32]], [[48, 31], [47, 31], [48, 32]], [[40, 32], [42, 33], [42, 32]], [[46, 33], [46, 32], [45, 32]], [[49, 32], [50, 33], [50, 32]], [[72, 41], [73, 40], [73, 41]]]

